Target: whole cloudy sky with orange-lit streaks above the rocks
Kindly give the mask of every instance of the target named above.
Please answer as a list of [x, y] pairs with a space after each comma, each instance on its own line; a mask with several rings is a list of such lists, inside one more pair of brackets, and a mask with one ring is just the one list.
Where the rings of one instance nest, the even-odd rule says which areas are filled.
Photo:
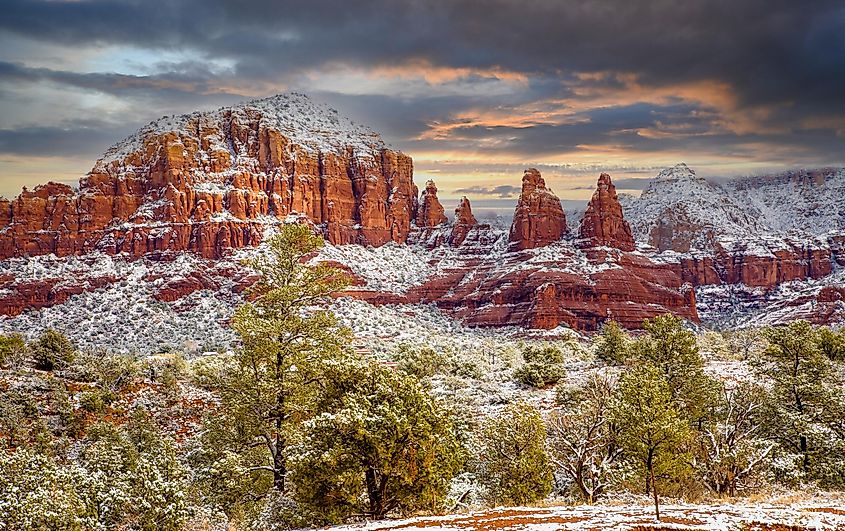
[[165, 114], [300, 91], [441, 196], [562, 199], [845, 164], [845, 4], [793, 0], [0, 3], [0, 194], [75, 181]]

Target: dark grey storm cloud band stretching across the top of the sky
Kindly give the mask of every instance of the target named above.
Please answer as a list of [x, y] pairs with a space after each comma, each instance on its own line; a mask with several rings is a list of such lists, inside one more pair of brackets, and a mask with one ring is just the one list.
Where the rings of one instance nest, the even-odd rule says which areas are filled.
[[523, 72], [634, 70], [650, 83], [720, 80], [746, 104], [808, 112], [845, 92], [838, 1], [570, 2], [8, 0], [0, 29], [69, 45], [189, 48], [264, 78], [329, 62]]

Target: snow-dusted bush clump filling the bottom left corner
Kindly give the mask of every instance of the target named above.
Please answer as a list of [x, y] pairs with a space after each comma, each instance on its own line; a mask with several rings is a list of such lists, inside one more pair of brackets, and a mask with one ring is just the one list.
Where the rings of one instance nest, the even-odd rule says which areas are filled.
[[96, 424], [83, 444], [78, 461], [65, 465], [29, 448], [0, 452], [0, 527], [183, 528], [187, 474], [173, 442], [148, 419], [134, 415], [123, 429]]

